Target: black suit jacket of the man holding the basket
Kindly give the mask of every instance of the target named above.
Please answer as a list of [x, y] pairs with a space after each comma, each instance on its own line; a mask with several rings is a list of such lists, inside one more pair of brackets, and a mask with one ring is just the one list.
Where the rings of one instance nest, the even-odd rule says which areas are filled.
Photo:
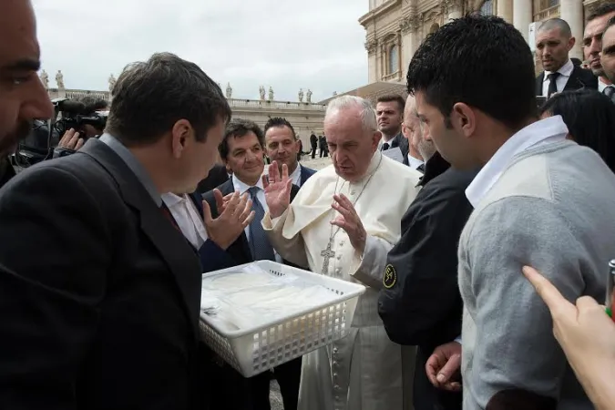
[[199, 258], [104, 142], [11, 179], [0, 243], [3, 408], [200, 408]]

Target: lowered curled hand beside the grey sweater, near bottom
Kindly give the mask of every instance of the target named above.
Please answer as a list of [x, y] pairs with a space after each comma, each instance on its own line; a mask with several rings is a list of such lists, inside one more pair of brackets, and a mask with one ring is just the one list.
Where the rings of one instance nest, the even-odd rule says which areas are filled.
[[429, 356], [425, 364], [427, 378], [437, 388], [449, 392], [461, 390], [461, 344], [441, 344]]

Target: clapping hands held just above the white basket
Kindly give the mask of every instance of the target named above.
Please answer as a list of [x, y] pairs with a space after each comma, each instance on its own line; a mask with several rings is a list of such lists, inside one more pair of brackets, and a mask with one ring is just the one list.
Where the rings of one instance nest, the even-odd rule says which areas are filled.
[[[232, 242], [237, 241], [241, 232], [254, 219], [254, 211], [251, 210], [252, 201], [247, 193], [240, 196], [239, 192], [233, 192], [231, 199], [224, 203], [222, 193], [218, 189], [213, 190], [213, 196], [220, 216], [214, 220], [211, 217], [210, 204], [207, 200], [203, 200], [203, 223], [210, 240], [226, 250]], [[220, 212], [222, 208], [224, 210]]]

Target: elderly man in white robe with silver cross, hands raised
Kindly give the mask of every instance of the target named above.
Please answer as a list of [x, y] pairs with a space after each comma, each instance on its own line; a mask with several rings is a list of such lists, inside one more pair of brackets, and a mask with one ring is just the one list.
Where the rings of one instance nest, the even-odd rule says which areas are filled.
[[303, 356], [299, 409], [402, 410], [402, 348], [384, 332], [378, 290], [421, 174], [378, 151], [374, 108], [363, 98], [331, 101], [324, 134], [333, 165], [308, 179], [292, 204], [288, 169], [280, 175], [277, 164], [270, 166], [262, 227], [282, 258], [361, 282], [367, 292], [350, 334]]

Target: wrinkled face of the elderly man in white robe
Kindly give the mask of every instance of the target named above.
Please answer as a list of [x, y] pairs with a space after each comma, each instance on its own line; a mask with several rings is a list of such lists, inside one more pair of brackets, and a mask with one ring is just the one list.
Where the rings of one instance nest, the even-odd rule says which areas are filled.
[[380, 132], [364, 128], [358, 108], [345, 108], [324, 118], [324, 135], [337, 175], [350, 182], [363, 179], [378, 149]]

